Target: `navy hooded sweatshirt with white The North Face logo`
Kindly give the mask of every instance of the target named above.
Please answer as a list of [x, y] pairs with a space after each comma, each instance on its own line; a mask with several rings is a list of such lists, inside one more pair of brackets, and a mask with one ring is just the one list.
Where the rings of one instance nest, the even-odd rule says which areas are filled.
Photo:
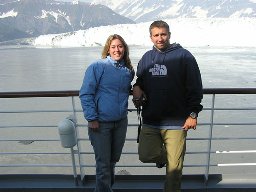
[[155, 46], [138, 63], [137, 80], [147, 95], [143, 124], [184, 126], [192, 112], [202, 110], [202, 79], [195, 57], [179, 44], [159, 52]]

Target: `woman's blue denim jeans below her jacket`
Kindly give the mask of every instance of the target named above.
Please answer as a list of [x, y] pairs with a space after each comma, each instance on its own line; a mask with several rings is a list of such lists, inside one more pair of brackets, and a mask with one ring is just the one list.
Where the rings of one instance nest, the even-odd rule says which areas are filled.
[[115, 163], [121, 157], [128, 126], [127, 117], [119, 121], [99, 122], [100, 131], [89, 129], [88, 135], [96, 160], [95, 192], [113, 192]]

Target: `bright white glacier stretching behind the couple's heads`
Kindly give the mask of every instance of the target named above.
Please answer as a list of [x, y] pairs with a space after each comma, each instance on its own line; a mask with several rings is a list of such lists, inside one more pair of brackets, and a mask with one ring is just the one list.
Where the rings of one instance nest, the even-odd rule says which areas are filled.
[[[170, 42], [182, 46], [256, 46], [256, 18], [180, 18], [165, 20]], [[35, 46], [104, 46], [109, 35], [121, 35], [128, 45], [153, 46], [149, 38], [152, 22], [99, 26], [73, 33], [41, 35]]]

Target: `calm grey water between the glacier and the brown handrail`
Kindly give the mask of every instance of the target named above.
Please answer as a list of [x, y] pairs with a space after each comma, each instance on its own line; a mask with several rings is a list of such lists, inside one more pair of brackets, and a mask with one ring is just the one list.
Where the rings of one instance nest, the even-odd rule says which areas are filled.
[[[184, 47], [196, 58], [204, 88], [256, 87], [255, 47]], [[132, 46], [136, 68], [151, 46]], [[102, 47], [0, 46], [0, 91], [79, 90]]]

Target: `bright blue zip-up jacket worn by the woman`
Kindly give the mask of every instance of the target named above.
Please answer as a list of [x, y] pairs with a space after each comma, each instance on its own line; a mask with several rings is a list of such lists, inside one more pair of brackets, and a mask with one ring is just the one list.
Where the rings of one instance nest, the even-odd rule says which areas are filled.
[[110, 56], [95, 60], [86, 70], [79, 93], [85, 119], [108, 122], [125, 118], [134, 76], [124, 60], [118, 62]]

